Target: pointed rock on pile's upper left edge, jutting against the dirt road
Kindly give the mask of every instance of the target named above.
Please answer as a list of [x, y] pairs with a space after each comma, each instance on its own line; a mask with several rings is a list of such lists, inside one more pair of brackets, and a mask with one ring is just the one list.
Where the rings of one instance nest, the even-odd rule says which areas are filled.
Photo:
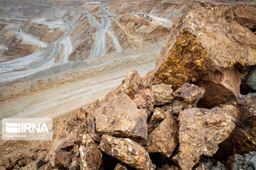
[[134, 70], [124, 77], [124, 81], [117, 89], [117, 94], [124, 93], [127, 94], [129, 98], [134, 99], [134, 95], [139, 94], [139, 91], [144, 89], [144, 85], [138, 72]]

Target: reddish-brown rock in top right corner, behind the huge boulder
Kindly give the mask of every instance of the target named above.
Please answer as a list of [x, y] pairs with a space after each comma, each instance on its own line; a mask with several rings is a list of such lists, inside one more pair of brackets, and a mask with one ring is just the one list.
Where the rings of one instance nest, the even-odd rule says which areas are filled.
[[256, 32], [256, 7], [235, 6], [234, 15], [235, 21], [238, 21], [240, 25], [247, 27], [252, 32]]

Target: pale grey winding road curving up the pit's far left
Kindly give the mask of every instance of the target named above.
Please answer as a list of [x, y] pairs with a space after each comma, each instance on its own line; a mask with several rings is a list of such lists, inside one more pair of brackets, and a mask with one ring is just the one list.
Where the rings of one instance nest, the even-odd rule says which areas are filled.
[[[55, 57], [60, 50], [60, 43], [64, 44], [64, 57], [62, 62], [58, 64], [62, 64], [68, 62], [68, 56], [72, 52], [72, 44], [70, 42], [70, 33], [73, 31], [73, 26], [70, 21], [63, 18], [62, 16], [55, 15], [53, 11], [50, 11], [50, 14], [53, 17], [59, 18], [63, 21], [63, 25], [65, 26], [66, 22], [68, 24], [68, 32], [63, 35], [62, 38], [58, 39], [53, 45], [48, 45], [43, 50], [35, 52], [26, 57], [17, 58], [15, 60], [0, 62], [0, 82], [11, 81], [14, 79], [18, 79], [21, 77], [26, 77], [30, 74], [34, 74], [36, 72], [40, 72], [43, 69], [47, 69], [49, 67], [55, 66]], [[11, 18], [16, 19], [16, 18]], [[19, 20], [23, 20], [19, 18]], [[44, 24], [44, 21], [40, 21], [41, 24]], [[49, 26], [49, 23], [45, 23], [46, 26]], [[51, 22], [50, 26], [61, 26], [60, 23]], [[25, 69], [25, 70], [23, 70]]]

